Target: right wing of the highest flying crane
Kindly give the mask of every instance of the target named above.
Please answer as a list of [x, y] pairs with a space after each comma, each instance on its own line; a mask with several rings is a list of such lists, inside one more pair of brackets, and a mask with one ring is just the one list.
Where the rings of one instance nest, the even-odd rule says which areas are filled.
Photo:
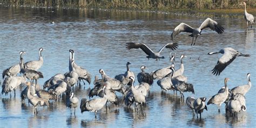
[[205, 19], [205, 21], [200, 26], [201, 30], [206, 28], [210, 28], [211, 30], [218, 32], [218, 34], [222, 34], [224, 32], [224, 28], [217, 22], [213, 21], [211, 18]]

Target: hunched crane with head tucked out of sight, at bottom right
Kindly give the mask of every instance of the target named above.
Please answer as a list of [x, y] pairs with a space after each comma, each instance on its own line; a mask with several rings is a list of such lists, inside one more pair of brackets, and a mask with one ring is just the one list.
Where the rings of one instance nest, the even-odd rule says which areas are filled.
[[226, 109], [232, 113], [233, 117], [237, 116], [241, 110], [246, 111], [244, 95], [237, 93], [231, 97], [227, 102]]

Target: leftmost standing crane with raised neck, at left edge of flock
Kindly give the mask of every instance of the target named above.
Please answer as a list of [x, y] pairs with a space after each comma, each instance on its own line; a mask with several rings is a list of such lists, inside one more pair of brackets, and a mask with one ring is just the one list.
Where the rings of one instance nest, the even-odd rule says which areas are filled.
[[[22, 58], [22, 55], [24, 53], [25, 53], [24, 51], [19, 52], [19, 58]], [[19, 72], [21, 72], [20, 63], [21, 62], [19, 62], [19, 64], [15, 64], [15, 65], [11, 66], [8, 69], [5, 69], [2, 73], [3, 79], [5, 76], [16, 76]]]

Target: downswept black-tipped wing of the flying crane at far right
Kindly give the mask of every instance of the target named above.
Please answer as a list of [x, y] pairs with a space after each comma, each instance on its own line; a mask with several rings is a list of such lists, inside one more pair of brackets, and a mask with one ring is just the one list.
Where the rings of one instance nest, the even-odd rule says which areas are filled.
[[221, 56], [212, 70], [213, 75], [220, 75], [220, 73], [226, 68], [227, 65], [230, 65], [231, 62], [237, 57], [237, 52], [224, 49], [224, 55]]

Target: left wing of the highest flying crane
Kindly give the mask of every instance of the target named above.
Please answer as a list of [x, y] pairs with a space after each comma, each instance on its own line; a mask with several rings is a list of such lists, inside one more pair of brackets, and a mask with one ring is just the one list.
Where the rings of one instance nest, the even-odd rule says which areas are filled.
[[171, 38], [172, 38], [172, 41], [173, 41], [173, 38], [176, 37], [180, 32], [190, 32], [192, 33], [193, 32], [193, 28], [190, 26], [190, 25], [187, 25], [185, 23], [180, 23], [178, 26], [176, 26], [176, 28], [172, 31], [172, 35], [171, 35]]

